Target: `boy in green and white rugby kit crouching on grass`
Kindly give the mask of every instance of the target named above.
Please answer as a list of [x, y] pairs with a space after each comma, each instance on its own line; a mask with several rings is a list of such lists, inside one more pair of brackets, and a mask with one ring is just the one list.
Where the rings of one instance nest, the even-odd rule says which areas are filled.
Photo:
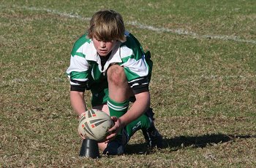
[[[87, 110], [84, 92], [90, 89], [92, 108], [108, 113], [115, 122], [105, 143], [98, 143], [103, 154], [123, 154], [124, 145], [138, 129], [143, 130], [148, 147], [162, 147], [149, 108], [149, 57], [113, 10], [96, 12], [88, 33], [74, 44], [67, 69], [72, 108], [79, 116]], [[129, 101], [133, 104], [128, 110]]]

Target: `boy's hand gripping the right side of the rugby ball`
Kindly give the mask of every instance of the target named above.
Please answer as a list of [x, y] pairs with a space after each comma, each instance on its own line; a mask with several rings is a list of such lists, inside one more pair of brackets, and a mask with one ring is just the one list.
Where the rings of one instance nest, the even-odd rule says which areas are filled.
[[110, 135], [105, 140], [105, 143], [108, 143], [110, 140], [113, 140], [118, 132], [124, 127], [124, 124], [121, 122], [121, 119], [118, 119], [116, 116], [111, 116], [111, 119], [114, 121], [114, 126], [108, 129]]

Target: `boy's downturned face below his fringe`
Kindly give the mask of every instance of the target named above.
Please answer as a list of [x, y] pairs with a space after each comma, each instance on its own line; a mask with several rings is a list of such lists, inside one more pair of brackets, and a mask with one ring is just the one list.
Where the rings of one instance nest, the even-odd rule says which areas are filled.
[[103, 57], [107, 56], [112, 51], [113, 47], [115, 47], [116, 45], [116, 40], [101, 41], [96, 38], [92, 38], [92, 41], [98, 54]]

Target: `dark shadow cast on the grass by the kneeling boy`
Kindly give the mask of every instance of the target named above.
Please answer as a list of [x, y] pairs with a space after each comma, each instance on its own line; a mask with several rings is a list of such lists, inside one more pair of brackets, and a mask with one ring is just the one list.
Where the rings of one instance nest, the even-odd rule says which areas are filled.
[[[191, 148], [204, 148], [206, 145], [213, 145], [218, 143], [226, 143], [236, 139], [246, 139], [256, 137], [256, 135], [201, 135], [196, 137], [181, 136], [171, 139], [164, 139], [164, 149], [171, 148], [171, 151], [178, 151], [178, 149], [191, 147]], [[135, 153], [148, 153], [146, 143], [127, 145], [127, 154]]]

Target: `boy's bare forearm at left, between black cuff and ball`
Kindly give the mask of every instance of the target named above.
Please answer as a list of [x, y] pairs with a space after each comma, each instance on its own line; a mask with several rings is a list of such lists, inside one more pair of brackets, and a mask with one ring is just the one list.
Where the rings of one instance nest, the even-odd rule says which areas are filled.
[[70, 103], [78, 116], [87, 110], [86, 102], [84, 100], [84, 92], [70, 91]]

